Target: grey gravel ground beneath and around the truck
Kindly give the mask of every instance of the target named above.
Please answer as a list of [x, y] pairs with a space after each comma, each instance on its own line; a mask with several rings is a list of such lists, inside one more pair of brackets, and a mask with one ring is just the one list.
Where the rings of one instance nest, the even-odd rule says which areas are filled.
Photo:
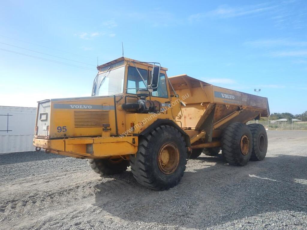
[[307, 132], [268, 136], [263, 161], [235, 167], [201, 155], [162, 192], [129, 169], [101, 178], [81, 159], [0, 155], [0, 228], [307, 229]]

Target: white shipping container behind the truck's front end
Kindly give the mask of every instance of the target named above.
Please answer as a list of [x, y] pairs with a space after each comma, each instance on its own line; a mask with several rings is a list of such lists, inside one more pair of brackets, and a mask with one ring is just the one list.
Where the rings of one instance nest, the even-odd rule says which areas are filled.
[[0, 106], [0, 154], [34, 151], [37, 108]]

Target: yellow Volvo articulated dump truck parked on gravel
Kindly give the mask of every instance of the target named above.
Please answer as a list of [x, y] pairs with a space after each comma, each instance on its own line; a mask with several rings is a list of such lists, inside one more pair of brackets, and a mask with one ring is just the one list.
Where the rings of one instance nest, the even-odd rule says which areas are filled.
[[239, 166], [264, 159], [266, 130], [246, 122], [269, 116], [267, 98], [125, 57], [97, 69], [91, 97], [38, 102], [37, 151], [87, 159], [101, 175], [130, 166], [154, 190], [176, 186], [202, 152]]

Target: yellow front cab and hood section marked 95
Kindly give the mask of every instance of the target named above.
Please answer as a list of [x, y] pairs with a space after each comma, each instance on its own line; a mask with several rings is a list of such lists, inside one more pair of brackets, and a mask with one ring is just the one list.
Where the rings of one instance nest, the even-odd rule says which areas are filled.
[[[155, 79], [153, 69], [159, 72]], [[140, 111], [136, 104], [141, 98], [156, 105], [154, 114], [159, 119], [176, 122], [181, 116], [180, 103], [170, 106], [178, 95], [168, 80], [167, 68], [159, 63], [121, 57], [97, 70], [91, 97], [38, 102], [33, 140], [37, 149], [76, 158], [130, 155], [137, 150], [138, 135], [158, 119]], [[133, 104], [133, 108], [122, 106]]]

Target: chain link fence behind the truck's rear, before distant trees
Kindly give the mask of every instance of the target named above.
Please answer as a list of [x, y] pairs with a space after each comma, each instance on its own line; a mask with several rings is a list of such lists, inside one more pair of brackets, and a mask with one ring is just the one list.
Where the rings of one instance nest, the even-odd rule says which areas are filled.
[[286, 121], [275, 121], [274, 123], [271, 121], [258, 121], [252, 120], [246, 123], [249, 124], [261, 124], [264, 128], [268, 130], [307, 130], [307, 122], [306, 121], [293, 121], [293, 123], [289, 123]]

